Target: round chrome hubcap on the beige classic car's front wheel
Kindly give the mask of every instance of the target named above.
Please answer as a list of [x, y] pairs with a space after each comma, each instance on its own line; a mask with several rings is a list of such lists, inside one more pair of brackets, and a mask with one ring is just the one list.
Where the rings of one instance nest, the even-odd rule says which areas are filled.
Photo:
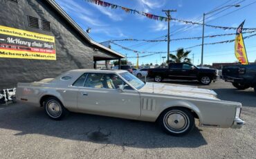
[[164, 118], [165, 127], [175, 133], [182, 133], [189, 126], [188, 116], [182, 111], [170, 111]]

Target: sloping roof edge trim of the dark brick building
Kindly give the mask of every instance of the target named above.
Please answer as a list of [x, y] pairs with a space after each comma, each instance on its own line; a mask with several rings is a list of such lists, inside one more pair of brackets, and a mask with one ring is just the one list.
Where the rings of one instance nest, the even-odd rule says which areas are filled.
[[121, 53], [118, 53], [115, 50], [111, 50], [110, 48], [107, 48], [106, 46], [103, 46], [102, 44], [99, 44], [98, 42], [93, 41], [93, 39], [91, 39], [91, 37], [89, 37], [89, 35], [86, 32], [84, 32], [84, 30], [77, 23], [75, 23], [75, 21], [73, 21], [73, 19], [71, 17], [69, 17], [69, 15], [54, 0], [46, 0], [46, 1], [57, 12], [59, 12], [60, 15], [62, 15], [62, 17], [64, 17], [64, 19], [66, 19], [66, 21], [68, 21], [68, 23], [71, 24], [71, 26], [73, 26], [73, 28], [75, 28], [75, 30], [77, 30], [77, 32], [79, 32], [80, 35], [82, 35], [82, 37], [84, 37], [84, 39], [89, 41], [89, 43], [91, 45], [98, 46], [99, 48], [102, 48], [102, 50], [106, 50], [107, 52], [114, 54], [119, 58], [125, 58], [125, 55], [122, 55]]

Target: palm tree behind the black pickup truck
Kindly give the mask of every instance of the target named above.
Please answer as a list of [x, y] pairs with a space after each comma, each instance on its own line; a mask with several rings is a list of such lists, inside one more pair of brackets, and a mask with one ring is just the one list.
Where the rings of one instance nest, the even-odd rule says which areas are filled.
[[179, 48], [177, 50], [176, 55], [170, 54], [170, 58], [174, 62], [188, 62], [191, 63], [191, 59], [188, 58], [188, 54], [191, 52], [191, 50], [186, 50], [184, 52], [184, 48]]

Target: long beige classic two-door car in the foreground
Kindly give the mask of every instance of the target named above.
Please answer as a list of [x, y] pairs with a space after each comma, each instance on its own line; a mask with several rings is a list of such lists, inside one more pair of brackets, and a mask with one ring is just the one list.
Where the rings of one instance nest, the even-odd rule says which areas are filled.
[[214, 91], [178, 84], [144, 83], [122, 70], [79, 69], [54, 79], [18, 83], [17, 100], [44, 106], [53, 120], [68, 111], [158, 122], [170, 135], [201, 127], [239, 129], [241, 103], [219, 100]]

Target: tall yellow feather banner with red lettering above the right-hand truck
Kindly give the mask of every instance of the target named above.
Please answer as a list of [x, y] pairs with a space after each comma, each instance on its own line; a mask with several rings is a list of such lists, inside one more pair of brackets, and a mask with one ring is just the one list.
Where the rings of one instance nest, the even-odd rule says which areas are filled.
[[248, 64], [246, 55], [246, 48], [244, 46], [244, 39], [242, 35], [244, 22], [237, 28], [237, 35], [235, 37], [235, 57], [237, 57], [240, 64]]

